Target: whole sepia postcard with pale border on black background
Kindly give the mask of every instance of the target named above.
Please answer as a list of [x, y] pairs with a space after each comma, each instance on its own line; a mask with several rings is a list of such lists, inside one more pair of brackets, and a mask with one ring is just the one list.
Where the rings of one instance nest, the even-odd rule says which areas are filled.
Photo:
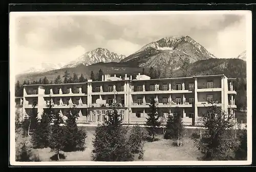
[[10, 164], [251, 164], [251, 15], [10, 12]]

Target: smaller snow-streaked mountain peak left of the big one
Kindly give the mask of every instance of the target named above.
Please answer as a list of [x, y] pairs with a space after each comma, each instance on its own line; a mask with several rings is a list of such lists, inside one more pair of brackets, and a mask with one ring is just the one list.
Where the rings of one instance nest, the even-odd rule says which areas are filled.
[[84, 53], [83, 55], [69, 62], [62, 68], [74, 68], [81, 64], [84, 66], [88, 66], [98, 62], [119, 62], [123, 58], [125, 58], [124, 55], [118, 55], [114, 52], [110, 52], [108, 49], [97, 48], [93, 51]]

